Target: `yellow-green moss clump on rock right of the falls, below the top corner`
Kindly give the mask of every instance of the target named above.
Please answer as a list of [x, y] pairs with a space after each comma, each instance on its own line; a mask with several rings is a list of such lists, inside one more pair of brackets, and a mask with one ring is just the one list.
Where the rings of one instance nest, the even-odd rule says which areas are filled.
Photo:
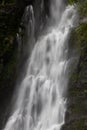
[[69, 42], [70, 47], [74, 46], [79, 54], [85, 51], [87, 48], [87, 22], [79, 24], [72, 30]]

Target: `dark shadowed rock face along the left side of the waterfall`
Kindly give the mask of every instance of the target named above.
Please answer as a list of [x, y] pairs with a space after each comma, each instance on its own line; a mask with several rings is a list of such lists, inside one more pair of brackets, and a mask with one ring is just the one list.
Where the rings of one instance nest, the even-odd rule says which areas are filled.
[[[18, 57], [19, 44], [16, 40], [18, 28], [22, 32], [19, 35], [25, 37], [25, 34], [23, 34], [24, 23], [22, 24], [23, 26], [21, 25], [25, 7], [28, 5], [33, 6], [35, 20], [34, 37], [37, 40], [38, 34], [46, 25], [49, 15], [48, 3], [49, 0], [0, 1], [0, 129], [4, 126], [10, 113], [9, 105], [17, 79], [17, 71], [24, 64], [23, 59], [20, 59], [22, 56], [24, 59], [27, 59], [27, 54], [20, 54], [20, 58]], [[33, 45], [30, 45], [30, 51], [31, 46]], [[24, 45], [22, 45], [21, 51], [23, 51], [23, 47]], [[22, 66], [18, 65], [18, 61], [21, 62]]]

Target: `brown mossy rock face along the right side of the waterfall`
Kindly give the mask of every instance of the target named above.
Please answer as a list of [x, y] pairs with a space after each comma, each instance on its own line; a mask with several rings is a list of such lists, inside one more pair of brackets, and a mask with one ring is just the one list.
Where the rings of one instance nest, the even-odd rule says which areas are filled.
[[70, 78], [66, 123], [62, 130], [87, 129], [87, 21], [83, 20], [87, 15], [87, 1], [79, 0], [77, 7], [79, 25], [72, 31], [70, 45], [75, 45], [79, 58]]

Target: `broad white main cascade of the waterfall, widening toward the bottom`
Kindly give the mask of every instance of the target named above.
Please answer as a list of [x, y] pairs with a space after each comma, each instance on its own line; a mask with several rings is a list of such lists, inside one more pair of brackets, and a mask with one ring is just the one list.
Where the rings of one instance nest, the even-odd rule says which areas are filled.
[[76, 10], [74, 6], [63, 7], [62, 0], [53, 0], [54, 24], [35, 44], [14, 111], [4, 130], [60, 130], [64, 124], [64, 93], [70, 63], [68, 37]]

